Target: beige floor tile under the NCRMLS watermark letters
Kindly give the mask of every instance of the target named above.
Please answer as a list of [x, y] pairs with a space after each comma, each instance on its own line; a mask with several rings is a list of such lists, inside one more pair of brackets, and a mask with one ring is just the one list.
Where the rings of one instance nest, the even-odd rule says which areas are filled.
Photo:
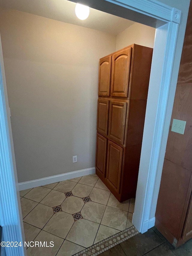
[[38, 234], [38, 236], [35, 238], [35, 241], [41, 241], [42, 243], [44, 241], [47, 242], [47, 246], [49, 245], [49, 242], [53, 242], [53, 247], [29, 247], [27, 249], [27, 256], [55, 256], [63, 243], [64, 239], [54, 236], [44, 230], [41, 230], [41, 232]]

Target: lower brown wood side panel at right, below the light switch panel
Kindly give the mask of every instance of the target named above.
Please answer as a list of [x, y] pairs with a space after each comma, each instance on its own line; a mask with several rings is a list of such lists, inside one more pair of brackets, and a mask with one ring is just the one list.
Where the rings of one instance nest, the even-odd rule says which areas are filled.
[[155, 218], [176, 238], [182, 221], [190, 176], [191, 171], [165, 159]]

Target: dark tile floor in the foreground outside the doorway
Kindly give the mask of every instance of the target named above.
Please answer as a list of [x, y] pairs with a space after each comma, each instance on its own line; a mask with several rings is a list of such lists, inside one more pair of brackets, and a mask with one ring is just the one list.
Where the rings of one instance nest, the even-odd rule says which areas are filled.
[[192, 256], [192, 239], [174, 249], [154, 227], [116, 245], [101, 256]]

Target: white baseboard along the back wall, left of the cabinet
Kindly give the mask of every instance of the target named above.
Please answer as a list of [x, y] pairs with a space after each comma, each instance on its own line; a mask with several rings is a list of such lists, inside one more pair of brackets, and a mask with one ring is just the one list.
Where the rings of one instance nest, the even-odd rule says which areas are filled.
[[85, 175], [89, 175], [89, 174], [93, 174], [93, 173], [95, 173], [95, 167], [84, 169], [84, 170], [79, 170], [79, 171], [74, 171], [74, 172], [70, 172], [70, 173], [63, 173], [63, 174], [59, 174], [59, 175], [55, 175], [55, 176], [42, 178], [42, 179], [34, 179], [34, 180], [26, 181], [26, 182], [20, 182], [19, 183], [19, 191], [28, 189], [28, 188], [36, 188], [39, 186], [44, 186], [44, 185], [48, 185], [51, 183], [60, 182], [60, 181], [64, 181], [67, 179], [73, 179], [73, 178], [77, 178], [77, 177], [81, 177], [81, 176], [85, 176]]

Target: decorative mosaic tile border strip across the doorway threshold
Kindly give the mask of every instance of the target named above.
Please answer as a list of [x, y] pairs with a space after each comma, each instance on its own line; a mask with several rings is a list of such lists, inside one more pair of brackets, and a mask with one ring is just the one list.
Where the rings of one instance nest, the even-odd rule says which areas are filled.
[[96, 256], [101, 254], [104, 251], [109, 250], [110, 248], [120, 244], [121, 242], [124, 242], [125, 240], [131, 238], [132, 236], [135, 236], [139, 234], [137, 229], [132, 226], [129, 227], [113, 236], [108, 237], [107, 239], [104, 239], [101, 242], [98, 242], [83, 251], [79, 251], [78, 253], [74, 254], [73, 256]]

